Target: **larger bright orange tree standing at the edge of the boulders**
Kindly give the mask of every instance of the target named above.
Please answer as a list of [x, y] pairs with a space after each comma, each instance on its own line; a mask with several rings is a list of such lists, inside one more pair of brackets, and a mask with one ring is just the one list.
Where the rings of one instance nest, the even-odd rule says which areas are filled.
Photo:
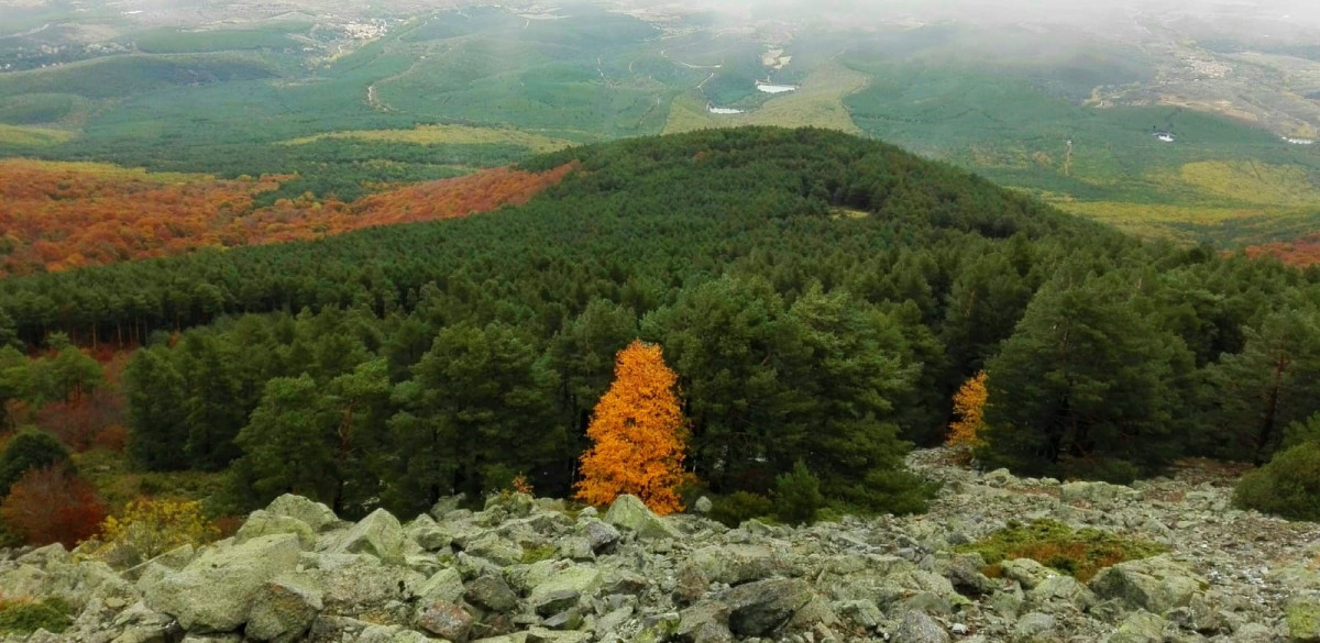
[[659, 345], [638, 340], [619, 350], [614, 383], [586, 430], [593, 445], [582, 453], [578, 499], [607, 505], [632, 494], [660, 515], [682, 510], [677, 488], [688, 436], [677, 381]]

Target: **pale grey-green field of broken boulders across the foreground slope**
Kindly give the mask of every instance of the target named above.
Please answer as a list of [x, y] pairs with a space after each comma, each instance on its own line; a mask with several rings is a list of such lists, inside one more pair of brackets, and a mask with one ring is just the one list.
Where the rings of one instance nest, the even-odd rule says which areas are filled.
[[[1320, 642], [1320, 528], [1232, 509], [1226, 480], [1061, 485], [944, 456], [911, 459], [945, 482], [920, 517], [729, 530], [631, 497], [574, 515], [512, 495], [354, 524], [286, 495], [234, 539], [128, 571], [28, 552], [0, 563], [0, 593], [73, 605], [71, 629], [29, 642]], [[1035, 518], [1172, 552], [1089, 584], [1030, 560], [989, 578], [952, 552]]]

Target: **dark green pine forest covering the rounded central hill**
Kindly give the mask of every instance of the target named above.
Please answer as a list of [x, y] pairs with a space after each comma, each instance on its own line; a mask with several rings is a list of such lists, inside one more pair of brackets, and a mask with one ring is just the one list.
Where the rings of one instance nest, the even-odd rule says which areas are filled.
[[418, 511], [519, 476], [565, 495], [639, 337], [678, 376], [690, 485], [733, 514], [797, 462], [838, 509], [920, 510], [902, 456], [982, 369], [978, 456], [1026, 474], [1265, 461], [1320, 411], [1316, 271], [1143, 244], [826, 130], [524, 169], [560, 167], [490, 215], [9, 278], [0, 310], [16, 345], [143, 341], [129, 453], [228, 470], [236, 510]]

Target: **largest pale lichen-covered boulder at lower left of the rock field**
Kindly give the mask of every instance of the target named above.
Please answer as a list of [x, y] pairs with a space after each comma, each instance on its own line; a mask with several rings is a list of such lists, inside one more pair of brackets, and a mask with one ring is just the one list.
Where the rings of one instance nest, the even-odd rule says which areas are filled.
[[178, 619], [189, 631], [238, 630], [252, 611], [257, 590], [298, 564], [298, 536], [263, 536], [202, 552], [181, 572], [147, 592], [147, 606]]

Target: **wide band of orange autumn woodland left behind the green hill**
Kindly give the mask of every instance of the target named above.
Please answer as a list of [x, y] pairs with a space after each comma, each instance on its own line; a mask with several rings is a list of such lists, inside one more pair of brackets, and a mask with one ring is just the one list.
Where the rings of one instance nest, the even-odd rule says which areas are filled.
[[354, 204], [298, 199], [253, 210], [257, 194], [289, 177], [220, 181], [91, 163], [0, 161], [0, 277], [462, 217], [525, 203], [572, 169], [533, 174], [500, 167]]

